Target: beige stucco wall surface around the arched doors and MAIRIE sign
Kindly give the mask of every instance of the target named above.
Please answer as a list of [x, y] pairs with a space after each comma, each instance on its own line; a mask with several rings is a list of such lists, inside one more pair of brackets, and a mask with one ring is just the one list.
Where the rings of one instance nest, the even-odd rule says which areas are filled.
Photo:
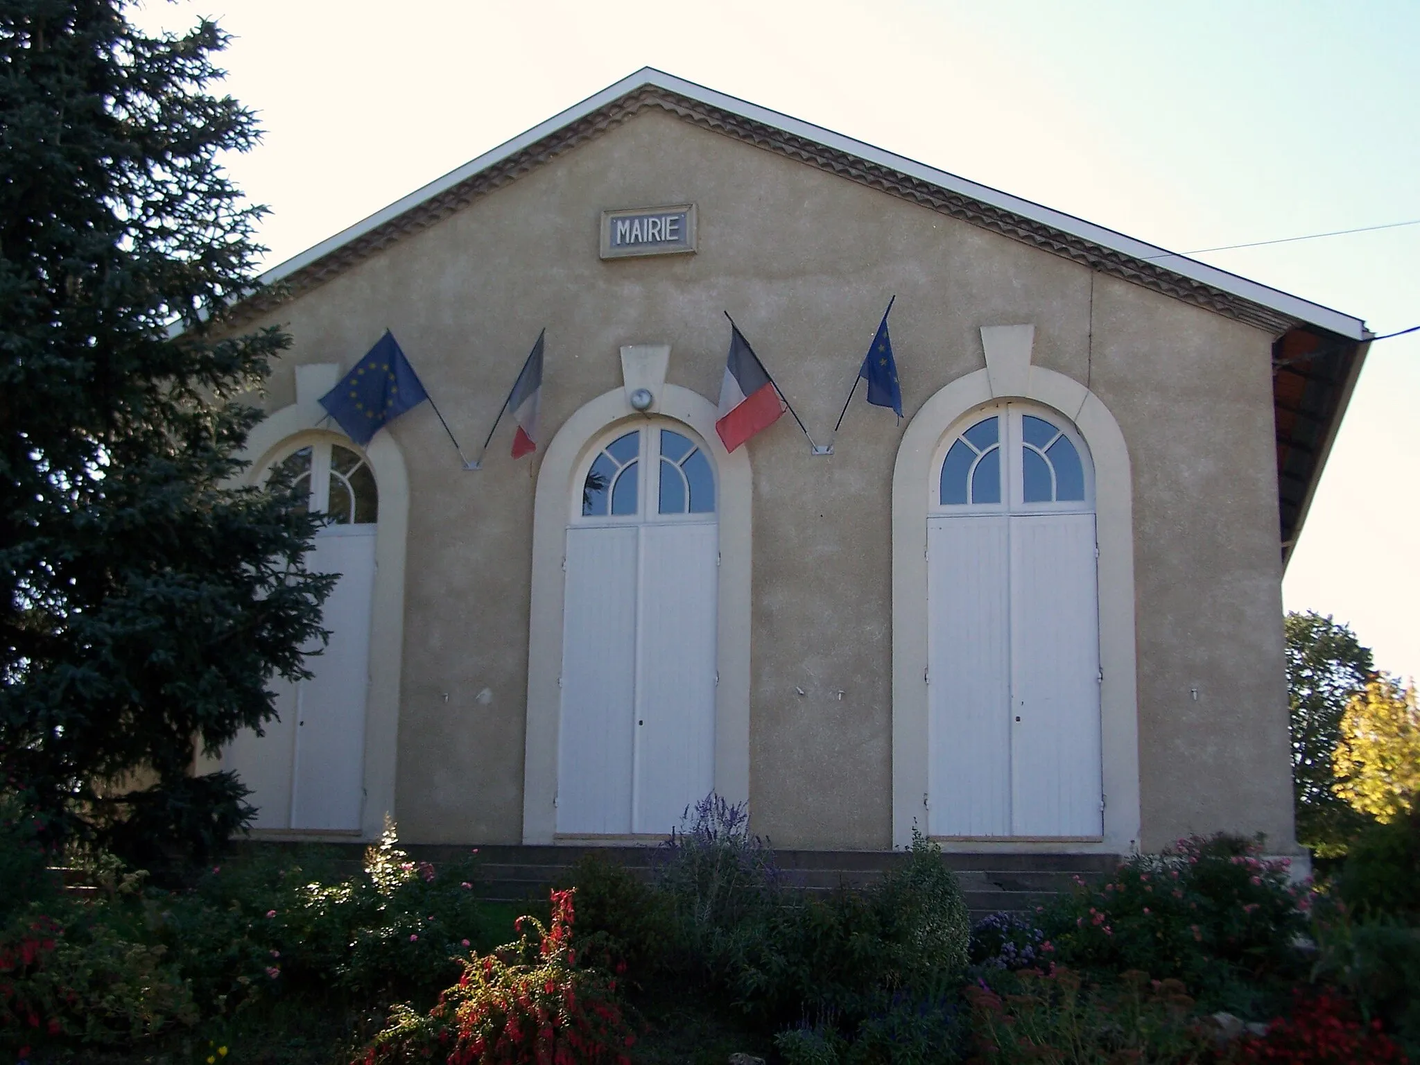
[[[697, 254], [599, 261], [601, 210], [683, 202]], [[1291, 849], [1271, 338], [1096, 277], [1091, 345], [1091, 290], [1085, 267], [645, 112], [266, 315], [295, 341], [268, 405], [291, 402], [293, 364], [348, 368], [392, 328], [467, 449], [545, 325], [551, 439], [619, 386], [625, 344], [669, 342], [667, 381], [713, 400], [728, 310], [826, 440], [889, 295], [909, 419], [984, 365], [980, 327], [1031, 322], [1035, 364], [1086, 383], [1130, 452], [1142, 843], [1233, 828]], [[541, 456], [511, 462], [504, 426], [484, 469], [460, 471], [427, 406], [388, 432], [410, 490], [402, 836], [517, 842]], [[859, 399], [832, 457], [790, 417], [750, 444], [751, 807], [780, 846], [892, 839], [900, 439]]]

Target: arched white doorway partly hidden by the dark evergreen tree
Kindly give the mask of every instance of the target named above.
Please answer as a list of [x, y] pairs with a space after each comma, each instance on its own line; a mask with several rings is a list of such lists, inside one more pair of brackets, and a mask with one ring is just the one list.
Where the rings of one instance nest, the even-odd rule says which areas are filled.
[[263, 736], [240, 733], [222, 764], [253, 790], [254, 828], [355, 832], [365, 798], [379, 493], [369, 462], [348, 440], [294, 440], [263, 477], [277, 469], [307, 490], [310, 510], [331, 515], [307, 555], [310, 569], [341, 575], [322, 612], [331, 638], [305, 649], [311, 677], [274, 682], [278, 719]]

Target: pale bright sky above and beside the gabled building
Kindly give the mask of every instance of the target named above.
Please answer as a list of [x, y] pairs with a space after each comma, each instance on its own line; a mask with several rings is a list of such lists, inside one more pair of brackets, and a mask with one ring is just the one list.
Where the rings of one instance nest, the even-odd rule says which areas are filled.
[[[1420, 219], [1420, 4], [148, 0], [236, 36], [268, 266], [652, 65], [1169, 248]], [[1198, 256], [1420, 324], [1420, 226]], [[1420, 676], [1420, 334], [1376, 344], [1284, 584]]]

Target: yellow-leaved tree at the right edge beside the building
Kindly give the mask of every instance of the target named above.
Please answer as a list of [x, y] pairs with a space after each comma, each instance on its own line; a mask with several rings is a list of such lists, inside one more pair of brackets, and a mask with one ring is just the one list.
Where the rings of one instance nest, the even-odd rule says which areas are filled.
[[1420, 799], [1420, 706], [1414, 682], [1376, 676], [1346, 703], [1332, 754], [1340, 798], [1362, 814], [1394, 821]]

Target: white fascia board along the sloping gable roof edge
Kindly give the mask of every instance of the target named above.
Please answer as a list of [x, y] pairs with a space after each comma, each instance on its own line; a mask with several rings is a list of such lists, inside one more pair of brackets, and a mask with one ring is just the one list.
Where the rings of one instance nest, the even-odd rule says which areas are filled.
[[768, 108], [750, 104], [748, 101], [738, 99], [737, 97], [717, 92], [711, 88], [706, 88], [704, 85], [697, 85], [693, 81], [686, 81], [672, 74], [666, 74], [665, 71], [659, 71], [653, 67], [643, 67], [635, 74], [622, 78], [616, 84], [608, 85], [601, 92], [584, 99], [581, 104], [575, 104], [545, 122], [540, 122], [511, 141], [506, 141], [456, 170], [450, 170], [443, 178], [439, 178], [422, 189], [417, 189], [395, 203], [390, 203], [388, 207], [375, 212], [354, 226], [327, 240], [322, 240], [320, 244], [315, 244], [301, 254], [285, 260], [280, 266], [275, 266], [264, 273], [261, 275], [261, 281], [271, 284], [294, 274], [324, 256], [331, 254], [344, 244], [358, 240], [371, 230], [378, 229], [386, 222], [399, 217], [405, 212], [417, 207], [420, 203], [425, 203], [460, 182], [467, 180], [480, 170], [494, 166], [508, 156], [521, 152], [524, 148], [541, 141], [544, 136], [586, 118], [592, 112], [629, 92], [635, 92], [636, 89], [646, 87], [660, 88], [667, 92], [687, 97], [704, 104], [706, 106], [727, 111], [753, 122], [772, 126], [792, 136], [801, 136], [807, 141], [824, 145], [825, 148], [858, 156], [890, 170], [905, 173], [909, 178], [916, 178], [929, 185], [940, 186], [961, 196], [967, 196], [968, 199], [978, 200], [980, 203], [985, 203], [988, 206], [998, 207], [1000, 210], [1018, 214], [1031, 222], [1037, 222], [1042, 226], [1049, 226], [1051, 229], [1079, 237], [1081, 240], [1088, 240], [1093, 244], [1099, 244], [1100, 247], [1119, 251], [1120, 254], [1154, 263], [1170, 273], [1179, 274], [1180, 277], [1187, 277], [1201, 284], [1211, 285], [1213, 288], [1218, 288], [1231, 295], [1237, 295], [1242, 300], [1274, 310], [1285, 317], [1296, 318], [1311, 325], [1329, 329], [1331, 332], [1346, 337], [1348, 339], [1363, 341], [1370, 335], [1366, 331], [1365, 321], [1353, 315], [1311, 302], [1309, 300], [1302, 300], [1301, 297], [1258, 284], [1257, 281], [1250, 281], [1245, 277], [1238, 277], [1237, 274], [1231, 274], [1225, 270], [1218, 270], [1217, 267], [1211, 267], [1206, 263], [1189, 258], [1187, 256], [1169, 251], [1167, 248], [1162, 248], [1156, 244], [1136, 240], [1125, 236], [1123, 233], [1118, 233], [1116, 230], [1106, 229], [1105, 226], [1096, 226], [1095, 223], [1075, 217], [1074, 214], [1052, 210], [1051, 207], [1034, 203], [1032, 200], [1011, 196], [1010, 193], [993, 189], [988, 185], [978, 185], [977, 182], [967, 180], [966, 178], [960, 178], [954, 173], [939, 170], [927, 166], [926, 163], [919, 163], [914, 159], [895, 155], [862, 141], [855, 141], [851, 136], [843, 136], [842, 133], [835, 133], [831, 129], [824, 129], [822, 126], [815, 126], [809, 122], [781, 115], [777, 111], [770, 111]]

